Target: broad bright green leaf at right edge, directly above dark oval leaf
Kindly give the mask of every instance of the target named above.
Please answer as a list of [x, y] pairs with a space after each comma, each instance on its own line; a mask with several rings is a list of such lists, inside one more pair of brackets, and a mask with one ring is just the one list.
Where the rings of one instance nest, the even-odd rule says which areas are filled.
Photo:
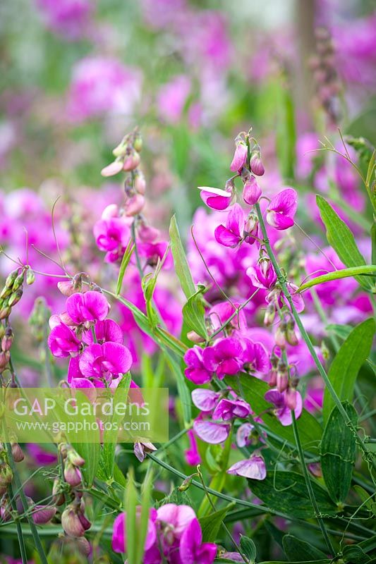
[[[356, 376], [363, 362], [367, 360], [375, 335], [375, 321], [366, 319], [356, 326], [341, 345], [330, 365], [328, 378], [341, 401], [351, 403]], [[326, 422], [334, 407], [334, 400], [327, 388], [324, 392], [322, 415]]]

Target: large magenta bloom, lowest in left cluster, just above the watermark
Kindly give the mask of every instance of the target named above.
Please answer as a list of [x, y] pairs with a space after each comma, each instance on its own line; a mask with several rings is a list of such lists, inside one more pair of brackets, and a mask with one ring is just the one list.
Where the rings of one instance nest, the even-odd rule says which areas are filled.
[[132, 363], [131, 352], [124, 345], [94, 343], [85, 348], [80, 356], [78, 367], [85, 378], [91, 378], [99, 384], [103, 380], [110, 381], [121, 374], [126, 374]]

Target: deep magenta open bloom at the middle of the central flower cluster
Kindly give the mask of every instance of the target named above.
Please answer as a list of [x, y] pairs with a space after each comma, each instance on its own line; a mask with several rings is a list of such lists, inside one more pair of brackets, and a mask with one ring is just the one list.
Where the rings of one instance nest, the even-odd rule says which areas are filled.
[[218, 339], [212, 347], [202, 353], [202, 362], [207, 370], [216, 372], [219, 379], [232, 375], [243, 367], [243, 348], [233, 337]]

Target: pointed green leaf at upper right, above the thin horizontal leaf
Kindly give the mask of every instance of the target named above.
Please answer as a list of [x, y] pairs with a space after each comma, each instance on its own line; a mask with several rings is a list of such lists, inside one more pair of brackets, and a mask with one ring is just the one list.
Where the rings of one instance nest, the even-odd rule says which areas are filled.
[[[334, 209], [322, 196], [316, 196], [317, 206], [320, 209], [320, 216], [327, 230], [327, 240], [341, 261], [351, 268], [352, 266], [363, 266], [366, 264], [363, 255], [356, 246], [355, 238], [346, 223], [334, 212]], [[370, 276], [355, 276], [356, 281], [370, 290], [375, 286]]]

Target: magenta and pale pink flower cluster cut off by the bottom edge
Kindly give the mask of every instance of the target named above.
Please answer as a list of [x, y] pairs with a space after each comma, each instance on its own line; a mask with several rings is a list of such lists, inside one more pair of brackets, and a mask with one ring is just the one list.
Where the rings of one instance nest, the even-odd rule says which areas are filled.
[[[112, 534], [115, 552], [127, 550], [126, 513], [116, 517]], [[140, 508], [136, 521], [140, 519]], [[150, 509], [144, 545], [144, 564], [212, 564], [217, 546], [202, 543], [200, 523], [189, 505], [166, 503], [159, 509]]]

